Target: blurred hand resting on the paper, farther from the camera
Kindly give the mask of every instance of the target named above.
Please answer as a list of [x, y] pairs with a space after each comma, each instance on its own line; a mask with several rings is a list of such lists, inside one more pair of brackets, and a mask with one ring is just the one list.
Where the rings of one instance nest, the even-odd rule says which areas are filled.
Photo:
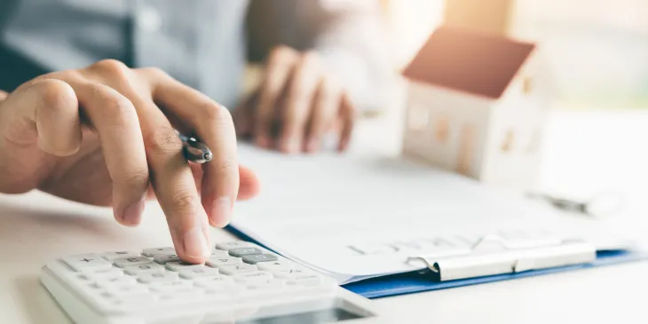
[[354, 110], [315, 52], [280, 46], [269, 56], [261, 87], [234, 111], [234, 122], [237, 133], [253, 138], [257, 146], [313, 153], [335, 131], [337, 148], [343, 151], [351, 139]]

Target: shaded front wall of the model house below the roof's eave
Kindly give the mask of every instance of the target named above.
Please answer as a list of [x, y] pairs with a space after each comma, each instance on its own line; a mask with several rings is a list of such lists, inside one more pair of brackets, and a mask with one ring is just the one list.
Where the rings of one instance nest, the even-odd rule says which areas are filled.
[[409, 83], [403, 154], [478, 178], [493, 101]]

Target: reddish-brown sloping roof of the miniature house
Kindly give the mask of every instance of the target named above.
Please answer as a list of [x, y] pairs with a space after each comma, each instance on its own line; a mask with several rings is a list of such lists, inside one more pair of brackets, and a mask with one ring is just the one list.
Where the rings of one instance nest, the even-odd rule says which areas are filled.
[[442, 27], [432, 33], [403, 75], [499, 99], [534, 48], [533, 43]]

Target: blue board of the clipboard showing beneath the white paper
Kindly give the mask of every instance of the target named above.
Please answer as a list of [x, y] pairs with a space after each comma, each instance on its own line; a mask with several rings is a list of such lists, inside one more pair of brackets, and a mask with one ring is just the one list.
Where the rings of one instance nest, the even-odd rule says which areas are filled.
[[[244, 241], [252, 241], [268, 249], [264, 244], [253, 240], [251, 237], [239, 231], [236, 227], [228, 225], [225, 229]], [[272, 250], [272, 249], [271, 249]], [[276, 252], [276, 251], [275, 251]], [[367, 298], [381, 298], [387, 296], [399, 296], [414, 294], [423, 291], [455, 288], [462, 286], [477, 285], [495, 281], [510, 281], [518, 278], [527, 278], [551, 273], [563, 273], [580, 269], [589, 269], [604, 265], [618, 265], [630, 262], [648, 260], [648, 251], [634, 250], [606, 250], [598, 251], [594, 262], [581, 265], [567, 265], [549, 269], [529, 270], [521, 273], [505, 273], [485, 277], [476, 277], [456, 281], [434, 281], [430, 273], [417, 271], [412, 273], [391, 274], [382, 277], [356, 281], [343, 285], [343, 288]]]

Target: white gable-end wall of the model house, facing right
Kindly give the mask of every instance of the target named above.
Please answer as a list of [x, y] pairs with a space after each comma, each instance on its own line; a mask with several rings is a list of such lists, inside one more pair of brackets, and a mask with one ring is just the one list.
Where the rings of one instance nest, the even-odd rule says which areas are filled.
[[[484, 182], [533, 189], [541, 168], [541, 141], [551, 95], [541, 61], [533, 58], [493, 109], [486, 139]], [[527, 78], [531, 78], [531, 92]]]

